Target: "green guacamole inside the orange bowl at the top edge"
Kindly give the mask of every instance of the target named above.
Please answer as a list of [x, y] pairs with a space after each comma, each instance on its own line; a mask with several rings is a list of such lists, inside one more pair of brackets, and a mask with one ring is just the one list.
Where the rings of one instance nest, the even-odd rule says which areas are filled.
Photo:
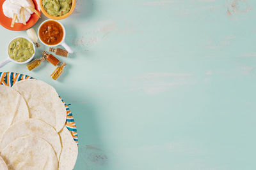
[[72, 0], [43, 0], [45, 11], [54, 17], [67, 14], [72, 6]]

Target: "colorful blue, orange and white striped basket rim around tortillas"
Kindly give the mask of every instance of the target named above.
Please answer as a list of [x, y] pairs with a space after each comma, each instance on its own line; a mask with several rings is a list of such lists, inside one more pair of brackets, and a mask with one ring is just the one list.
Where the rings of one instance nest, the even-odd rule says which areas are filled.
[[[31, 76], [27, 76], [24, 74], [19, 73], [13, 73], [13, 72], [0, 72], [0, 85], [6, 85], [9, 87], [12, 87], [14, 83], [20, 80], [28, 80], [28, 79], [35, 79]], [[60, 96], [59, 96], [60, 97]], [[68, 104], [66, 104], [63, 99], [60, 97], [61, 101], [65, 105], [65, 108], [67, 110], [67, 120], [66, 120], [66, 127], [70, 131], [70, 133], [73, 136], [74, 141], [76, 141], [78, 146], [78, 138], [77, 138], [77, 130], [76, 130], [76, 123], [74, 120], [74, 117], [68, 108]]]

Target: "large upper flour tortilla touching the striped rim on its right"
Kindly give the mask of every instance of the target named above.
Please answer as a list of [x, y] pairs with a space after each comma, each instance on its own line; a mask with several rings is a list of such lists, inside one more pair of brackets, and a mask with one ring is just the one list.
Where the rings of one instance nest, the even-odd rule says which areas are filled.
[[30, 118], [43, 120], [60, 132], [64, 127], [67, 111], [56, 90], [44, 81], [23, 80], [12, 87], [28, 104]]

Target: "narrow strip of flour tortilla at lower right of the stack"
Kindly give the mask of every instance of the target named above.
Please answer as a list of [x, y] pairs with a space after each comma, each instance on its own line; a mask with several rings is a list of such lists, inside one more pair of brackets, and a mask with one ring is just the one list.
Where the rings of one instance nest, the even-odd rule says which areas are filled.
[[64, 127], [59, 133], [62, 144], [60, 154], [59, 170], [73, 169], [76, 164], [78, 147], [67, 127]]

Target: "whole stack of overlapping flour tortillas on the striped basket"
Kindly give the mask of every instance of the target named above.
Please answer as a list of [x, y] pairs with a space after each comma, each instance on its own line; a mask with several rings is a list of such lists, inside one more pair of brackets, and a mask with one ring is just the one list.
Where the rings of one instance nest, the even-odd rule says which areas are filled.
[[56, 90], [40, 80], [0, 85], [0, 169], [72, 170], [77, 145]]

